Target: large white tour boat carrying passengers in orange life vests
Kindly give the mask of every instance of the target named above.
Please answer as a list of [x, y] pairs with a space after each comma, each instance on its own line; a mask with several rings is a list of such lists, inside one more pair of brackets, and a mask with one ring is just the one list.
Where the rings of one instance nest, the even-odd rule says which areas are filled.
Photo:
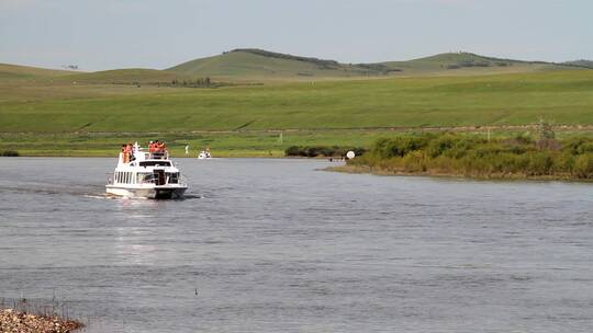
[[167, 151], [143, 151], [136, 142], [130, 158], [120, 152], [105, 190], [108, 195], [168, 199], [182, 197], [188, 185]]

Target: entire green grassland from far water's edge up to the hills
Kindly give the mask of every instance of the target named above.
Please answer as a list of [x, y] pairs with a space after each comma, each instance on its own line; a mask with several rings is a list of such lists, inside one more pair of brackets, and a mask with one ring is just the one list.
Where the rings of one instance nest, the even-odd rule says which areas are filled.
[[159, 138], [177, 154], [189, 143], [219, 156], [281, 156], [289, 146], [370, 147], [380, 137], [439, 127], [526, 131], [521, 126], [539, 117], [567, 125], [566, 135], [593, 125], [591, 70], [216, 89], [153, 84], [178, 76], [142, 69], [7, 74], [0, 78], [0, 150], [103, 156], [123, 141]]

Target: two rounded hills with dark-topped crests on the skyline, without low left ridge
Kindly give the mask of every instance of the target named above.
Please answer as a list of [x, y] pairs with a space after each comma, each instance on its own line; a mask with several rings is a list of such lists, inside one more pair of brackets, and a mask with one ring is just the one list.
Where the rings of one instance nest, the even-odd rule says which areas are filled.
[[314, 79], [381, 76], [489, 74], [586, 68], [579, 64], [552, 64], [447, 53], [407, 61], [342, 64], [335, 60], [292, 56], [262, 49], [240, 48], [194, 59], [169, 68], [189, 76], [220, 78]]

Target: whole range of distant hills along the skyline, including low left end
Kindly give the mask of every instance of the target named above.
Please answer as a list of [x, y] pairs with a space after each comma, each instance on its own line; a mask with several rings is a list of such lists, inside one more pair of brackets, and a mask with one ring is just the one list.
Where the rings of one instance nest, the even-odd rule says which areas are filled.
[[335, 60], [293, 56], [257, 48], [239, 48], [217, 56], [187, 61], [166, 70], [114, 69], [96, 72], [51, 70], [0, 64], [0, 82], [19, 80], [54, 83], [170, 83], [197, 82], [206, 77], [219, 81], [309, 81], [323, 79], [475, 76], [549, 70], [593, 69], [593, 61], [563, 64], [522, 61], [480, 56], [471, 53], [446, 53], [407, 61], [342, 64]]

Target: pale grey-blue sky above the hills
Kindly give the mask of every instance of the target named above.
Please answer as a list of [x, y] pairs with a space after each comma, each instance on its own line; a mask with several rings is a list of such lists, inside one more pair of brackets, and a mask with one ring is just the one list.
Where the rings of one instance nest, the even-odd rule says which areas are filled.
[[593, 59], [592, 0], [0, 0], [0, 62], [164, 69], [234, 48], [342, 62]]

